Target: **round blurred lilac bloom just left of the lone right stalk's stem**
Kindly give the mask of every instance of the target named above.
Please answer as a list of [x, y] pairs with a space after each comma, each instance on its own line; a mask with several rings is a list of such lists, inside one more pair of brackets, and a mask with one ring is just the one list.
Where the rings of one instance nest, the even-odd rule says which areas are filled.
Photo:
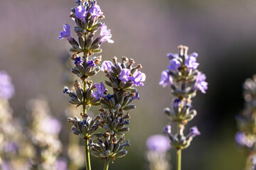
[[146, 146], [158, 153], [167, 152], [171, 148], [169, 138], [164, 135], [152, 135], [146, 140]]

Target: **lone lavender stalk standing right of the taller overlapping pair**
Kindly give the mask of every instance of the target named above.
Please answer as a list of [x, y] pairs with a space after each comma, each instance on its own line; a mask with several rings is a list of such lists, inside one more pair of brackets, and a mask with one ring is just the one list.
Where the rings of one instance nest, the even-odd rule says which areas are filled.
[[171, 147], [177, 150], [176, 169], [180, 170], [181, 150], [190, 145], [193, 137], [200, 135], [196, 126], [190, 129], [188, 135], [183, 135], [185, 125], [196, 116], [191, 98], [196, 96], [198, 90], [206, 94], [208, 83], [206, 75], [197, 69], [199, 64], [196, 62], [196, 57], [198, 57], [196, 52], [188, 55], [188, 47], [179, 45], [178, 54], [169, 53], [167, 57], [170, 64], [168, 69], [161, 73], [159, 84], [163, 87], [171, 87], [171, 94], [175, 96], [171, 108], [165, 108], [164, 113], [171, 122], [177, 124], [177, 132], [172, 134], [171, 125], [166, 125], [164, 133], [169, 136]]

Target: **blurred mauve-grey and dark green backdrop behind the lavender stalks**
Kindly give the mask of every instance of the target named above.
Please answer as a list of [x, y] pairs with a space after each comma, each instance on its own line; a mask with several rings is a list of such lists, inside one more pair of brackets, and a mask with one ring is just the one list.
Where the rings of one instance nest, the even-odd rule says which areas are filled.
[[[206, 95], [198, 93], [193, 107], [198, 111], [186, 128], [197, 125], [201, 135], [182, 152], [183, 169], [243, 169], [245, 158], [234, 142], [235, 115], [243, 108], [242, 82], [256, 73], [255, 0], [98, 0], [112, 30], [114, 44], [102, 45], [102, 59], [132, 57], [143, 65], [145, 86], [141, 100], [131, 112], [131, 141], [127, 157], [117, 159], [110, 169], [146, 169], [144, 152], [149, 135], [161, 133], [168, 123], [163, 108], [169, 107], [169, 89], [159, 86], [166, 69], [166, 53], [187, 45], [198, 52], [198, 69], [209, 83]], [[63, 121], [61, 139], [68, 140], [70, 127], [64, 113], [68, 106], [62, 90], [63, 62], [70, 45], [57, 40], [69, 18], [73, 0], [1, 0], [0, 69], [5, 69], [16, 88], [11, 98], [14, 114], [25, 112], [26, 101], [39, 94], [48, 97], [54, 115]], [[75, 36], [75, 33], [71, 33]], [[99, 83], [105, 79], [98, 74]], [[97, 113], [97, 109], [92, 109]], [[79, 113], [79, 112], [78, 112]], [[74, 136], [77, 137], [77, 136]], [[83, 151], [81, 151], [83, 152]], [[171, 150], [175, 165], [175, 151]], [[92, 169], [103, 162], [92, 157]]]

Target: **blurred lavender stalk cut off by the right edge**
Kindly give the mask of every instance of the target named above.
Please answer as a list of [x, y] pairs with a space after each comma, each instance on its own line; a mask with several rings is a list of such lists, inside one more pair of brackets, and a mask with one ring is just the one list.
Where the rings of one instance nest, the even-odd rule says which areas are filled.
[[235, 142], [247, 157], [246, 170], [255, 169], [256, 166], [256, 75], [253, 79], [247, 79], [243, 84], [245, 109], [237, 115], [238, 132]]

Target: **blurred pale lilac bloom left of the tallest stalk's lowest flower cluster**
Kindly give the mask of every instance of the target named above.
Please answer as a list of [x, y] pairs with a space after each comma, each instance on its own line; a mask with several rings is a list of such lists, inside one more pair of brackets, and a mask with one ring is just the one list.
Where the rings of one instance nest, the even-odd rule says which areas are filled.
[[61, 124], [57, 119], [48, 116], [41, 121], [40, 128], [43, 132], [57, 135], [61, 130]]

